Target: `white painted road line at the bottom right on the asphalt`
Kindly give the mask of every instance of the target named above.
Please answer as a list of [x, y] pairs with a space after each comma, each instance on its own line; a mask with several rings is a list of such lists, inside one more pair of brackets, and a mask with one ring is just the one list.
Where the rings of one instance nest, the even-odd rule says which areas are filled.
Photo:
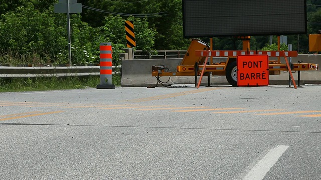
[[289, 146], [278, 145], [271, 149], [243, 178], [243, 180], [263, 179]]

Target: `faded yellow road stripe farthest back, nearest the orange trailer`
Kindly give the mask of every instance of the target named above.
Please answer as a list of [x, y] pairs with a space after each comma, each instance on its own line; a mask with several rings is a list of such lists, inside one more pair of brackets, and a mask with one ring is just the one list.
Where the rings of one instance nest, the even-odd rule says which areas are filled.
[[160, 100], [160, 99], [166, 99], [166, 98], [171, 98], [171, 97], [178, 97], [178, 96], [188, 95], [188, 94], [193, 94], [193, 93], [207, 92], [207, 91], [217, 90], [217, 89], [221, 89], [221, 88], [205, 88], [205, 89], [196, 89], [196, 90], [189, 90], [189, 91], [178, 92], [178, 93], [171, 93], [171, 94], [165, 94], [165, 95], [158, 95], [158, 96], [153, 96], [153, 97], [146, 97], [146, 98], [133, 99], [133, 100], [128, 100], [128, 101], [133, 101], [133, 102], [145, 102], [145, 101], [152, 101], [152, 100]]

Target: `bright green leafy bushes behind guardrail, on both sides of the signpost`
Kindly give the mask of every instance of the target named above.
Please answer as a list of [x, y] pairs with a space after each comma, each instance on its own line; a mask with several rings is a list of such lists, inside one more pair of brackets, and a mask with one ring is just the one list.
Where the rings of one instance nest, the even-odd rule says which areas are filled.
[[[0, 17], [0, 64], [12, 63], [69, 63], [66, 14], [54, 13], [53, 6], [40, 11], [34, 4], [24, 1], [21, 6]], [[72, 14], [72, 63], [99, 63], [99, 44], [111, 42], [114, 65], [119, 65], [119, 54], [126, 48], [125, 20], [120, 16], [107, 16], [102, 27], [90, 27]], [[149, 28], [147, 19], [129, 17], [135, 24], [137, 48], [153, 48], [155, 29]]]

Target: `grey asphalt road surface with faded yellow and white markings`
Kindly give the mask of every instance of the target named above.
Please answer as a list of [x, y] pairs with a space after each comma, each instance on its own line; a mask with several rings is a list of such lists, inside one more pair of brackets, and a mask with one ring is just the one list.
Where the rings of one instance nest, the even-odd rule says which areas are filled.
[[0, 93], [0, 179], [321, 179], [321, 86]]

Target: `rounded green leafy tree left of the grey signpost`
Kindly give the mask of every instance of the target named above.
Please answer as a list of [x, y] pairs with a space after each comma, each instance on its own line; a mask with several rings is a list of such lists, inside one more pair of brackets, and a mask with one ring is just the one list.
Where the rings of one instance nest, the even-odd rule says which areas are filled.
[[63, 28], [56, 25], [57, 19], [61, 20], [48, 10], [40, 12], [31, 3], [2, 14], [0, 35], [3, 40], [0, 49], [37, 58], [56, 53], [56, 48], [63, 45], [66, 37]]

